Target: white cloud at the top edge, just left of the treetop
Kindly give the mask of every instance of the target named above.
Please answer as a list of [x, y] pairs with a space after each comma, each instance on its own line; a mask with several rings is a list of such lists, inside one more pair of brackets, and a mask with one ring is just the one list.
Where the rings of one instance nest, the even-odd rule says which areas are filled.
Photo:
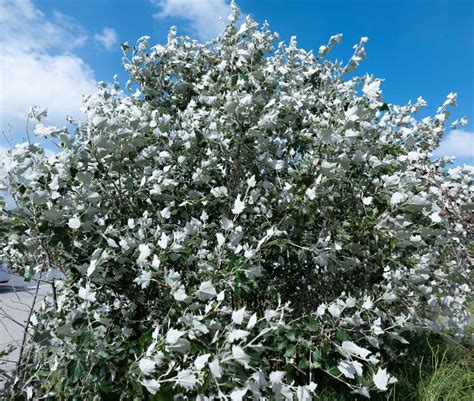
[[203, 40], [220, 34], [230, 14], [225, 0], [152, 0], [160, 7], [155, 18], [179, 18], [190, 23], [191, 30]]

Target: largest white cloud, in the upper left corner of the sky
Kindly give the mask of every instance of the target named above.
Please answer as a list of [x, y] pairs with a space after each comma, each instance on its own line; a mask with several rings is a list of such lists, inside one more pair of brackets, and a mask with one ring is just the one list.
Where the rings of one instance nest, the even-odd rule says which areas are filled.
[[[82, 95], [95, 90], [91, 68], [71, 53], [85, 44], [71, 17], [47, 18], [31, 0], [0, 0], [0, 121], [13, 141], [24, 135], [30, 106], [48, 108], [48, 122], [80, 116]], [[0, 139], [1, 141], [1, 139]]]

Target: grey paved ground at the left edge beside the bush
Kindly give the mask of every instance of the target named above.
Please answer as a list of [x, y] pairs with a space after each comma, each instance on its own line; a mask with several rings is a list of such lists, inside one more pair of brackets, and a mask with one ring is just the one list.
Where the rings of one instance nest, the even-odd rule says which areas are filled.
[[[21, 342], [36, 292], [37, 281], [25, 282], [21, 277], [12, 275], [8, 283], [0, 284], [0, 351], [9, 346], [16, 349], [6, 357], [0, 357], [0, 367], [12, 370], [16, 367]], [[37, 307], [50, 285], [40, 284], [35, 306]], [[0, 376], [0, 389], [2, 388]]]

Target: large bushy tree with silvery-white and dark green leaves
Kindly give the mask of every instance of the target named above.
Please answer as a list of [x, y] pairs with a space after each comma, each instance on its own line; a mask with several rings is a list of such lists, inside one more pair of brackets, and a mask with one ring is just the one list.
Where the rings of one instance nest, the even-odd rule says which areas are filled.
[[313, 54], [241, 22], [123, 45], [128, 92], [100, 84], [74, 133], [38, 124], [55, 155], [9, 152], [0, 256], [65, 275], [12, 397], [369, 397], [411, 334], [463, 334], [473, 170], [430, 158], [455, 95], [417, 120], [423, 99], [348, 76], [366, 38], [344, 65], [341, 35]]

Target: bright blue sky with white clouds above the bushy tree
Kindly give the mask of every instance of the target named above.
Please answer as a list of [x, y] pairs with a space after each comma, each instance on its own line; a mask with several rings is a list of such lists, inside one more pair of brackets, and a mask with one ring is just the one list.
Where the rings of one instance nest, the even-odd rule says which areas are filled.
[[[474, 2], [470, 0], [241, 0], [243, 14], [268, 20], [282, 40], [318, 49], [337, 33], [343, 43], [331, 58], [348, 59], [368, 36], [358, 69], [385, 79], [385, 101], [418, 96], [433, 114], [445, 96], [458, 93], [453, 117], [466, 127], [449, 132], [440, 153], [474, 163]], [[114, 74], [125, 82], [120, 43], [143, 35], [163, 42], [171, 25], [208, 39], [222, 29], [225, 0], [0, 0], [0, 119], [14, 141], [24, 131], [29, 105], [49, 108], [49, 121], [79, 117], [83, 93]], [[3, 139], [0, 146], [6, 146]]]

